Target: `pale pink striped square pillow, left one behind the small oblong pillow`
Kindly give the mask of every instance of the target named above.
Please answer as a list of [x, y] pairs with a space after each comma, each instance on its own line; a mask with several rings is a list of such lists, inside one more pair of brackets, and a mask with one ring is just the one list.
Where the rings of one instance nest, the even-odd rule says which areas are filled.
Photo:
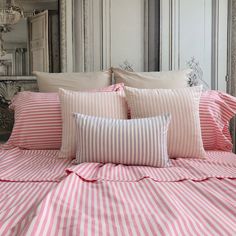
[[59, 97], [63, 121], [61, 158], [73, 158], [76, 154], [76, 125], [73, 113], [127, 119], [128, 108], [123, 91], [89, 93], [59, 89]]

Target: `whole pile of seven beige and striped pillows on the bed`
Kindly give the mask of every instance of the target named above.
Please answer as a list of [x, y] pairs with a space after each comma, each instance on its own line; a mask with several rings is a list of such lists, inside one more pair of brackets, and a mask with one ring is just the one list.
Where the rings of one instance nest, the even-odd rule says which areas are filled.
[[[59, 158], [168, 167], [170, 158], [231, 151], [236, 98], [188, 87], [189, 70], [36, 73], [39, 93], [18, 93], [8, 141], [24, 149], [60, 149]], [[128, 119], [130, 116], [131, 119]]]

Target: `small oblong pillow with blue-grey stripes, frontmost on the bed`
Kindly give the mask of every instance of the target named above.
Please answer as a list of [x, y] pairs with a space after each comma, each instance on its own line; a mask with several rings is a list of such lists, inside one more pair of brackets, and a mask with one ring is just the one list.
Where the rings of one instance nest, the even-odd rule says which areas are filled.
[[169, 115], [116, 120], [75, 114], [76, 162], [167, 167]]

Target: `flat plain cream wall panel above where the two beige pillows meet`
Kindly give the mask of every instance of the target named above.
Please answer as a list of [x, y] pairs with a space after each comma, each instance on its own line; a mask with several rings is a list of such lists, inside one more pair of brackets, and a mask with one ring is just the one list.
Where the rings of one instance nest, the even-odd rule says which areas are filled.
[[144, 0], [111, 1], [111, 66], [144, 70]]

